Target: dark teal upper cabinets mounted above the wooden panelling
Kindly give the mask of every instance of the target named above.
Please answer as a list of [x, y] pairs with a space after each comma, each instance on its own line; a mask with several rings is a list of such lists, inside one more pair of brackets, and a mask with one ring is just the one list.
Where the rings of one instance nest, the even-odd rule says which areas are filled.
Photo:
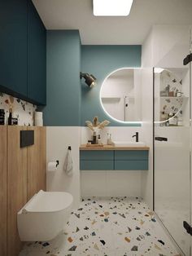
[[0, 91], [46, 104], [46, 29], [31, 0], [0, 0]]

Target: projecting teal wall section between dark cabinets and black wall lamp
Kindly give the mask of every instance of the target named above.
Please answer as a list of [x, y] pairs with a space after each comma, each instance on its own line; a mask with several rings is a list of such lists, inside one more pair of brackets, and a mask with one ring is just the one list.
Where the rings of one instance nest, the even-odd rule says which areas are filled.
[[80, 126], [81, 39], [78, 30], [48, 30], [46, 126]]

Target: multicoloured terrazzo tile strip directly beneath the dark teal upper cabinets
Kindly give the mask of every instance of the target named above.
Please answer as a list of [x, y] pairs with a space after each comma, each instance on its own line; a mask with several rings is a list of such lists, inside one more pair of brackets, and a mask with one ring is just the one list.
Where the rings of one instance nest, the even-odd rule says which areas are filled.
[[36, 105], [0, 92], [0, 108], [5, 110], [6, 124], [9, 117], [9, 109], [11, 108], [13, 117], [18, 118], [19, 126], [33, 126], [33, 115], [37, 108]]

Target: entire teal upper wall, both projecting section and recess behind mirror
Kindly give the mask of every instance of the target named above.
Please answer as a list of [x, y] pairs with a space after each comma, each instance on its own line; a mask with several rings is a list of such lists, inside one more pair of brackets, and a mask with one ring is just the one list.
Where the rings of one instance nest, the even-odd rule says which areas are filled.
[[[78, 30], [48, 30], [46, 34], [46, 126], [85, 126], [98, 116], [122, 124], [104, 113], [99, 100], [103, 80], [117, 68], [140, 67], [141, 46], [81, 46]], [[89, 89], [80, 72], [93, 73], [97, 86]]]

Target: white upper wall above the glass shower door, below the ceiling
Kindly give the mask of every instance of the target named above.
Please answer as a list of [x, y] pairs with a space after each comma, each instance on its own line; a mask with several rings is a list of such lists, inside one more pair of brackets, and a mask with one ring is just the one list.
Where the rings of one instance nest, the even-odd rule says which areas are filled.
[[183, 67], [188, 38], [187, 25], [154, 25], [142, 45], [142, 67]]

